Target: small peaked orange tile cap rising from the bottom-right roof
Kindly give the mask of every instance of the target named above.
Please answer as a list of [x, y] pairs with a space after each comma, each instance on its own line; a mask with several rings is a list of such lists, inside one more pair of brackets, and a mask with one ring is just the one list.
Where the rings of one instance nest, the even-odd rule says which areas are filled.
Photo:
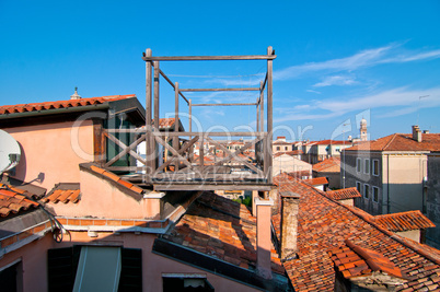
[[346, 241], [346, 246], [340, 246], [328, 252], [328, 256], [344, 278], [369, 276], [373, 271], [385, 272], [390, 276], [402, 278], [402, 271], [394, 262], [382, 254]]

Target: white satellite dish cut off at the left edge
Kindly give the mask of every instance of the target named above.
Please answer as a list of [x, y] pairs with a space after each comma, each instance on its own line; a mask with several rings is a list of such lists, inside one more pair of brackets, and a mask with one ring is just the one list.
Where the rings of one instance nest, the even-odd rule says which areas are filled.
[[15, 139], [0, 130], [0, 174], [12, 170], [20, 162], [21, 150]]

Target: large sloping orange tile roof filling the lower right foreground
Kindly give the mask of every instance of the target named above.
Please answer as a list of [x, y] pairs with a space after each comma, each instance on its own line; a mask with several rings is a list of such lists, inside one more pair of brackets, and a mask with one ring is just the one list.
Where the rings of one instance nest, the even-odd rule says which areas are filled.
[[[374, 223], [359, 209], [332, 201], [322, 191], [287, 174], [276, 176], [274, 182], [279, 191], [301, 196], [299, 258], [283, 264], [296, 291], [334, 291], [335, 269], [327, 252], [344, 246], [347, 238], [383, 255], [401, 269], [408, 282], [400, 289], [414, 291], [440, 284], [440, 250], [405, 240]], [[273, 222], [279, 235], [280, 226], [276, 224], [279, 213]]]

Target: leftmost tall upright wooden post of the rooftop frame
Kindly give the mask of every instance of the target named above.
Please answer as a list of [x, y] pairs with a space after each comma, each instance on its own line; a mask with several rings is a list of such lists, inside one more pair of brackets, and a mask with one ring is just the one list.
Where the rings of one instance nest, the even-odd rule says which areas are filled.
[[[151, 57], [151, 49], [146, 50], [146, 56]], [[151, 84], [151, 79], [152, 79], [152, 66], [151, 62], [147, 61], [146, 62], [146, 130], [147, 130], [147, 177], [148, 180], [149, 175], [152, 173], [153, 170], [153, 163], [154, 160], [151, 157], [153, 156], [153, 143], [154, 143], [154, 137], [151, 133], [151, 90], [152, 90], [152, 84]]]

